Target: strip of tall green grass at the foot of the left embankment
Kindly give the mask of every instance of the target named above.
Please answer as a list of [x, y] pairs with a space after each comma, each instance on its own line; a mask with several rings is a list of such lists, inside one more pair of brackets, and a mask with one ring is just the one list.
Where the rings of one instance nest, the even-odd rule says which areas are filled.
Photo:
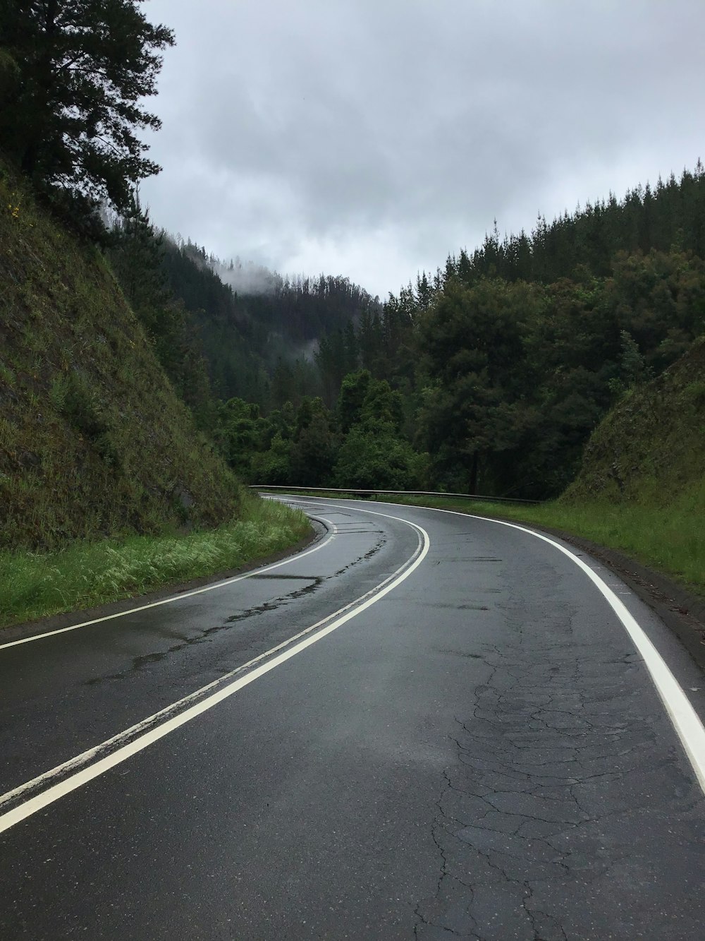
[[241, 518], [186, 535], [81, 541], [56, 552], [0, 553], [0, 627], [217, 575], [310, 533], [299, 510], [245, 497]]

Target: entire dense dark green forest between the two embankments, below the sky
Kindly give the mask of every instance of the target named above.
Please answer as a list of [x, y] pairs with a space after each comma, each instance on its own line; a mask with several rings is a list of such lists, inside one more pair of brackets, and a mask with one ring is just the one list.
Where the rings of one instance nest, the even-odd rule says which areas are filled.
[[[123, 290], [243, 479], [542, 499], [619, 396], [705, 329], [703, 200], [698, 161], [528, 235], [500, 241], [495, 226], [384, 304], [343, 278], [243, 278], [138, 207], [110, 254], [134, 279], [120, 258], [142, 227], [147, 293], [156, 282], [171, 319], [124, 276]], [[170, 363], [179, 343], [189, 355]]]

